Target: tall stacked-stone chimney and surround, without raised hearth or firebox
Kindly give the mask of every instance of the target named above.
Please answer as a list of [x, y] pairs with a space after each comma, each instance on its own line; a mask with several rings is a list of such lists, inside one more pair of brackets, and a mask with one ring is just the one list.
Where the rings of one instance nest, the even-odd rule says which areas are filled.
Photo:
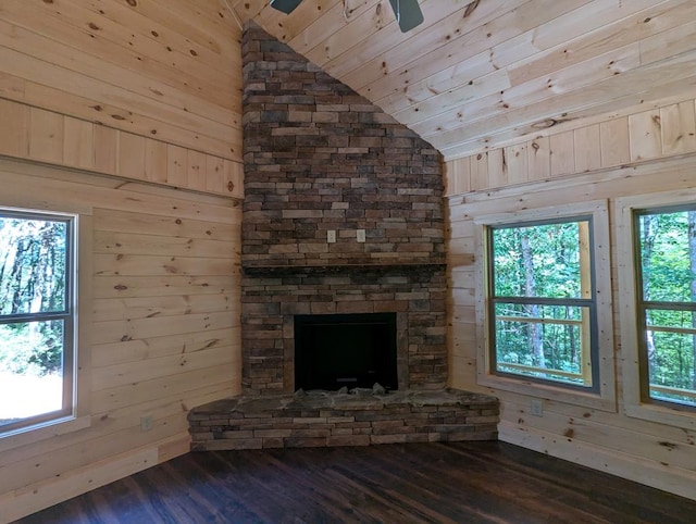
[[295, 391], [295, 317], [332, 314], [394, 314], [398, 389], [443, 388], [439, 153], [258, 26], [243, 53], [245, 392]]

